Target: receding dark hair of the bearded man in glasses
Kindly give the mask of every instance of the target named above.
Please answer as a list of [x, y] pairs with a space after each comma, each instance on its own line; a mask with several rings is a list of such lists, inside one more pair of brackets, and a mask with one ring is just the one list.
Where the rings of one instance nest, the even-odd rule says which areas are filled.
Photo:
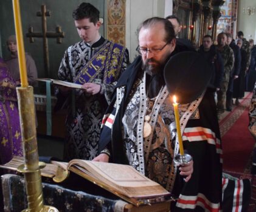
[[138, 32], [142, 28], [153, 28], [154, 25], [159, 23], [162, 23], [164, 25], [165, 42], [170, 43], [173, 40], [173, 38], [175, 38], [176, 36], [175, 36], [175, 30], [173, 29], [173, 25], [171, 24], [170, 21], [168, 21], [168, 19], [159, 18], [159, 17], [149, 18], [140, 25]]

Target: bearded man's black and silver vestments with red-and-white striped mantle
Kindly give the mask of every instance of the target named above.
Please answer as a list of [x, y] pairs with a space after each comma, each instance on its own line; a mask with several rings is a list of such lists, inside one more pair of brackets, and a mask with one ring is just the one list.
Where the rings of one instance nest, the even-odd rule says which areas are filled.
[[[192, 104], [179, 105], [185, 151], [192, 155], [194, 172], [185, 183], [173, 163], [178, 153], [172, 100], [159, 76], [141, 69], [140, 57], [127, 68], [103, 118], [99, 151], [111, 151], [111, 162], [130, 164], [179, 197], [175, 211], [218, 211], [221, 204], [221, 140], [216, 105], [206, 91]], [[146, 75], [146, 76], [145, 76]], [[157, 84], [154, 81], [161, 81]], [[151, 94], [151, 84], [157, 93]], [[143, 137], [145, 116], [150, 116], [150, 136]]]

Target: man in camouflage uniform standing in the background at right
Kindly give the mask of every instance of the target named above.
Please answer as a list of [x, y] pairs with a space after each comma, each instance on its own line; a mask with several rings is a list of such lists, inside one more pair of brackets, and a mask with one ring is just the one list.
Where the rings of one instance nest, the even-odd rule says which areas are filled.
[[226, 91], [229, 85], [229, 76], [234, 66], [234, 52], [232, 48], [227, 45], [226, 33], [220, 33], [217, 37], [218, 45], [217, 51], [220, 53], [224, 64], [223, 81], [221, 82], [220, 90], [217, 91], [217, 110], [218, 116], [224, 112], [224, 105], [226, 104]]

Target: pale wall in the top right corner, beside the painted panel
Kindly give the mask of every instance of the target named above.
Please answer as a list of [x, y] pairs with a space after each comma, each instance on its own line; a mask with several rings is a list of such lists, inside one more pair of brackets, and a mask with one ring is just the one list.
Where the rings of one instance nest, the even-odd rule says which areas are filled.
[[243, 31], [244, 37], [248, 39], [256, 40], [256, 11], [253, 15], [244, 14], [243, 9], [251, 7], [256, 8], [255, 0], [243, 0], [238, 1], [238, 24], [237, 31]]

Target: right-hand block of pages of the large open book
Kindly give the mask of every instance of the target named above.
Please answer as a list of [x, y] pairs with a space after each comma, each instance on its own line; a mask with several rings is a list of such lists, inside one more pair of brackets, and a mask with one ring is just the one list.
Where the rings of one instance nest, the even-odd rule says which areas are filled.
[[161, 185], [140, 174], [130, 165], [72, 160], [69, 162], [69, 167], [76, 167], [80, 171], [99, 179], [99, 181], [122, 190], [129, 197], [170, 194]]

